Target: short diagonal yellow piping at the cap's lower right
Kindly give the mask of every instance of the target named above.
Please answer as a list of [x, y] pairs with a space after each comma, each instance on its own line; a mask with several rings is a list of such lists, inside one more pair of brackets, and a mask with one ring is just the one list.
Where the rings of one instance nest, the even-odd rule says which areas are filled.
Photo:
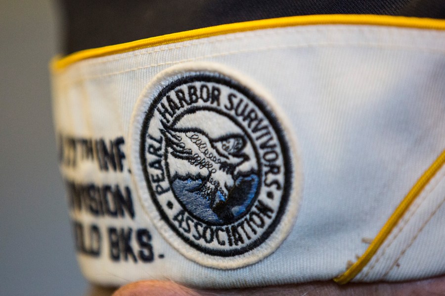
[[442, 151], [441, 155], [433, 162], [433, 164], [426, 170], [426, 172], [420, 177], [416, 184], [409, 190], [405, 198], [403, 198], [400, 205], [388, 219], [388, 221], [383, 225], [383, 228], [374, 238], [374, 240], [369, 245], [368, 249], [363, 253], [363, 255], [341, 276], [334, 278], [339, 284], [346, 284], [351, 281], [356, 275], [363, 269], [363, 267], [371, 260], [375, 255], [377, 250], [383, 244], [385, 239], [391, 233], [391, 230], [396, 226], [397, 222], [401, 219], [405, 211], [411, 205], [411, 203], [416, 199], [416, 197], [422, 192], [423, 188], [430, 182], [430, 180], [436, 175], [440, 168], [445, 163], [445, 150]]

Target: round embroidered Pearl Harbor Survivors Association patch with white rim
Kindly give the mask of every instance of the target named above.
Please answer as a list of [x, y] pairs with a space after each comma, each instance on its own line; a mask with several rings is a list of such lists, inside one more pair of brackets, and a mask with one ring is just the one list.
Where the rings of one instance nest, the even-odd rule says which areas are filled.
[[283, 114], [245, 80], [215, 64], [175, 67], [148, 85], [133, 117], [142, 205], [180, 253], [217, 268], [271, 254], [299, 204]]

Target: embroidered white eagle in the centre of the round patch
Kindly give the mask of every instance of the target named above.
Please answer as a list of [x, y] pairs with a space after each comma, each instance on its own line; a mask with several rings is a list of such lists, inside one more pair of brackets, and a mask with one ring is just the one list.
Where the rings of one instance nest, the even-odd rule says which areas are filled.
[[[249, 156], [242, 152], [246, 146], [245, 137], [241, 134], [227, 134], [212, 139], [197, 128], [176, 129], [165, 123], [163, 126], [161, 133], [166, 140], [166, 148], [170, 148], [170, 154], [198, 168], [204, 177], [194, 191], [210, 200], [211, 209], [225, 203], [235, 184], [235, 177], [240, 173], [239, 166], [249, 160]], [[184, 171], [184, 168], [178, 166], [176, 169]]]

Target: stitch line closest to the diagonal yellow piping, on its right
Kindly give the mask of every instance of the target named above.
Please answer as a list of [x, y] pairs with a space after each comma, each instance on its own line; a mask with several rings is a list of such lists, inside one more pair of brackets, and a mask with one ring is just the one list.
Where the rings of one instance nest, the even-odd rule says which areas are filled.
[[[436, 182], [434, 184], [430, 184], [428, 190], [424, 190], [422, 192], [422, 197], [421, 199], [416, 199], [415, 201], [415, 205], [414, 208], [409, 211], [407, 210], [407, 212], [409, 211], [409, 215], [406, 215], [408, 213], [405, 213], [405, 215], [403, 216], [402, 220], [398, 223], [397, 226], [398, 229], [397, 231], [394, 233], [394, 235], [392, 236], [391, 240], [387, 240], [388, 243], [386, 244], [385, 248], [382, 250], [382, 252], [375, 258], [374, 262], [372, 263], [372, 265], [368, 268], [368, 270], [365, 272], [365, 274], [363, 276], [361, 276], [359, 278], [359, 280], [364, 280], [369, 273], [371, 272], [372, 269], [374, 269], [374, 267], [377, 265], [377, 263], [379, 262], [380, 259], [382, 259], [382, 257], [386, 254], [386, 251], [388, 251], [388, 248], [393, 244], [393, 242], [399, 237], [399, 234], [401, 234], [402, 230], [404, 229], [404, 227], [408, 224], [408, 222], [411, 220], [411, 218], [414, 216], [414, 214], [417, 212], [417, 210], [420, 208], [420, 206], [422, 205], [422, 203], [426, 200], [426, 198], [429, 196], [429, 194], [437, 187], [437, 185], [440, 184], [442, 178], [445, 176], [445, 170], [440, 174], [440, 176], [438, 176]], [[397, 227], [396, 226], [396, 227]], [[396, 228], [395, 227], [395, 228]], [[395, 229], [394, 229], [395, 230]], [[393, 234], [393, 231], [391, 232], [391, 234]], [[389, 237], [388, 237], [389, 239]]]

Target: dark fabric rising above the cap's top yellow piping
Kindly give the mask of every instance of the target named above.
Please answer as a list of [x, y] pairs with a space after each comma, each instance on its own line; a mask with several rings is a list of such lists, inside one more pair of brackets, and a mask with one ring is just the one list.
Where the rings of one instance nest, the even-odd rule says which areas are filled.
[[191, 29], [310, 14], [445, 18], [444, 0], [62, 0], [65, 53]]

